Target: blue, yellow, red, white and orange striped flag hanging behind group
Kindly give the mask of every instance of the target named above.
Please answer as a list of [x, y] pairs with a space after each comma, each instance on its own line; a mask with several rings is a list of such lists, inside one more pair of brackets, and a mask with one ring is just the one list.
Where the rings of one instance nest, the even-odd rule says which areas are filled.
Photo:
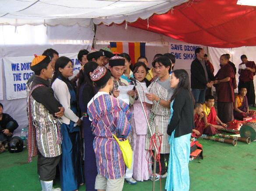
[[135, 64], [140, 56], [146, 56], [146, 42], [110, 42], [112, 52], [126, 52]]

